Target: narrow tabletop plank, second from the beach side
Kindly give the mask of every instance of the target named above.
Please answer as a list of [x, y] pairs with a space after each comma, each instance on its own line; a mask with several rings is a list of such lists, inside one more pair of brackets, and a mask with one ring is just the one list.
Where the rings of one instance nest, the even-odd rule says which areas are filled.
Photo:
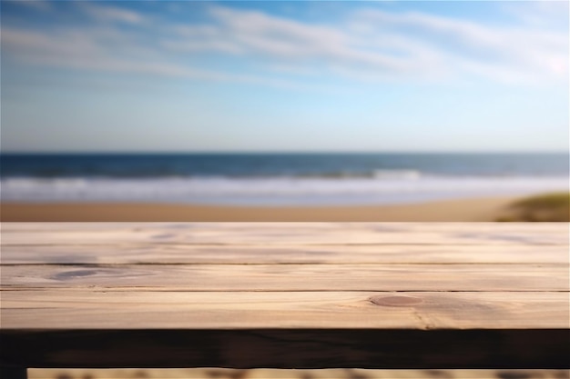
[[566, 245], [2, 245], [2, 264], [561, 264]]

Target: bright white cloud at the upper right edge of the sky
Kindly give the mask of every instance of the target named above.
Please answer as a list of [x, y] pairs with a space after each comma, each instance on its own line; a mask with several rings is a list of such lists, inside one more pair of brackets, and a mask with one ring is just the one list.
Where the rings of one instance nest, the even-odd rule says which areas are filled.
[[378, 10], [357, 18], [382, 34], [407, 35], [416, 45], [430, 48], [447, 70], [483, 75], [494, 80], [533, 82], [567, 75], [567, 32], [523, 26], [492, 26], [419, 13], [394, 14]]

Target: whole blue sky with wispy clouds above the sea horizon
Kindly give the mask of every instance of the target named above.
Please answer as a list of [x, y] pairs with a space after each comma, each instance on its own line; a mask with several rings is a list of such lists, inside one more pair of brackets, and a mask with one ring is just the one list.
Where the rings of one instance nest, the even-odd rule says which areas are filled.
[[2, 152], [567, 152], [568, 1], [2, 0]]

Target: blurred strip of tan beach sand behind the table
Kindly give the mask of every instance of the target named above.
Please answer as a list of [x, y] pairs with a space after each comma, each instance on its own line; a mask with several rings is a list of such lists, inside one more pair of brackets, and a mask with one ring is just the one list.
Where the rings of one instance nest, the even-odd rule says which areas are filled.
[[196, 204], [1, 204], [2, 221], [494, 221], [515, 197], [361, 206], [209, 206]]

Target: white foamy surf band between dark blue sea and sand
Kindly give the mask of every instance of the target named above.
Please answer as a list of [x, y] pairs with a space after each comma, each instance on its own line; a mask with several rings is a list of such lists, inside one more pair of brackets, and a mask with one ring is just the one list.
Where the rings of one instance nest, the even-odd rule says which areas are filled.
[[[378, 173], [377, 173], [378, 174]], [[2, 178], [5, 202], [117, 201], [198, 204], [390, 204], [568, 190], [567, 176]]]

